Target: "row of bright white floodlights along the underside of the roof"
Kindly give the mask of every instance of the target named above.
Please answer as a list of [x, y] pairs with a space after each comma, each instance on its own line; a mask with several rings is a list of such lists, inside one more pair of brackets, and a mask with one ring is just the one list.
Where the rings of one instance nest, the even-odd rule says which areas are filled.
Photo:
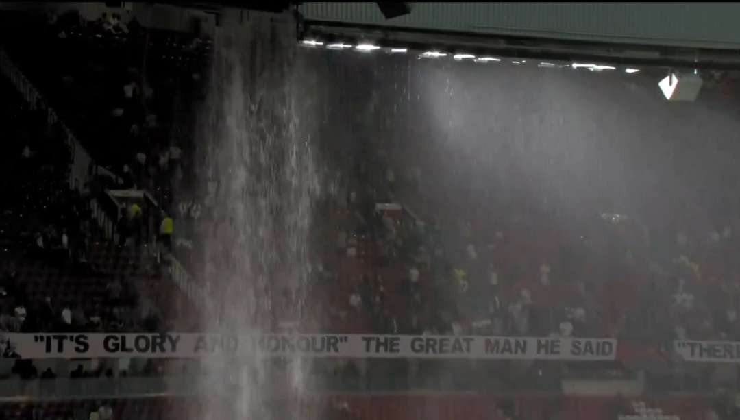
[[[308, 47], [321, 47], [324, 45], [322, 41], [316, 41], [316, 40], [309, 40], [304, 39], [301, 41], [301, 44], [306, 45]], [[380, 47], [374, 44], [344, 44], [341, 42], [332, 43], [332, 44], [326, 44], [326, 48], [329, 50], [349, 50], [350, 48], [354, 48], [354, 50], [359, 52], [372, 52], [375, 50], [380, 50]], [[390, 52], [391, 54], [403, 54], [408, 52], [407, 48], [388, 48], [386, 50], [387, 52]], [[442, 58], [446, 57], [449, 54], [447, 52], [440, 52], [440, 51], [426, 51], [422, 52], [419, 57], [420, 58]], [[452, 55], [452, 58], [455, 61], [463, 61], [463, 60], [471, 60], [476, 63], [491, 63], [491, 62], [498, 62], [502, 61], [501, 58], [496, 57], [488, 57], [488, 56], [482, 56], [477, 57], [473, 54], [454, 54]], [[526, 64], [526, 60], [512, 60], [511, 64]], [[548, 63], [546, 61], [542, 61], [539, 64], [537, 64], [537, 67], [543, 67], [543, 68], [554, 68], [554, 67], [571, 67], [573, 69], [586, 69], [590, 70], [592, 72], [600, 72], [602, 70], [616, 70], [616, 67], [613, 66], [606, 66], [602, 64], [593, 64], [593, 63], [573, 63], [573, 64], [565, 64], [565, 65], [558, 65], [555, 63]], [[628, 67], [625, 69], [625, 72], [628, 74], [633, 74], [636, 72], [639, 72], [639, 69]]]

